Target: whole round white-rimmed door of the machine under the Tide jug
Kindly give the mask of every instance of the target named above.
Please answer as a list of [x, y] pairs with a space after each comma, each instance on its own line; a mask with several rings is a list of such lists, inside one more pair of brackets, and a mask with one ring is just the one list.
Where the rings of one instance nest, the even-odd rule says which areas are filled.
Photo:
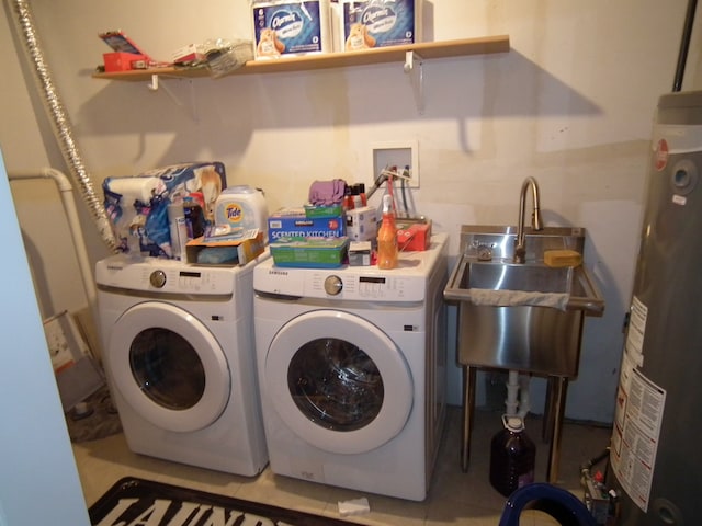
[[131, 409], [168, 431], [212, 424], [230, 392], [227, 361], [217, 340], [189, 312], [147, 301], [120, 317], [106, 364]]

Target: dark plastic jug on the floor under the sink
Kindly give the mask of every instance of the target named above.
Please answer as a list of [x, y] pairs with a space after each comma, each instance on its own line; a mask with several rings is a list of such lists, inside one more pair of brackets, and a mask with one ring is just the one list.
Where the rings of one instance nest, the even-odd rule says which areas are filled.
[[534, 481], [536, 446], [524, 431], [520, 416], [502, 416], [505, 428], [490, 443], [490, 484], [509, 496]]

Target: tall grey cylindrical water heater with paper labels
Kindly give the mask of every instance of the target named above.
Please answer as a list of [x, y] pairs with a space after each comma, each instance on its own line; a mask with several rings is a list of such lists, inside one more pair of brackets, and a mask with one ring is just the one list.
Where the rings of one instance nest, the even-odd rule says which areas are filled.
[[660, 96], [608, 483], [624, 526], [702, 521], [702, 91]]

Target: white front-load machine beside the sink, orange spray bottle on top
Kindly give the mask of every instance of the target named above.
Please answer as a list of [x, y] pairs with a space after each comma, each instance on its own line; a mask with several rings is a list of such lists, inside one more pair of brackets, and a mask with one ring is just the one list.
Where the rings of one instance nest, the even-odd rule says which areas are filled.
[[392, 271], [254, 268], [274, 473], [424, 500], [445, 420], [446, 239]]

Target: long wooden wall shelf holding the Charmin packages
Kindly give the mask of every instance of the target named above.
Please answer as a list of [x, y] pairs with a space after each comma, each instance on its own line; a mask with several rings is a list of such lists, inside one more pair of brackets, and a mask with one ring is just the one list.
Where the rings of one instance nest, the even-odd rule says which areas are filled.
[[[446, 42], [424, 42], [406, 46], [381, 47], [363, 52], [319, 53], [299, 57], [284, 57], [271, 60], [249, 60], [231, 75], [273, 73], [280, 71], [305, 71], [315, 69], [366, 66], [381, 62], [405, 61], [407, 52], [414, 52], [422, 59], [462, 57], [507, 53], [510, 49], [509, 35], [464, 38]], [[94, 73], [95, 79], [143, 81], [154, 75], [163, 77], [207, 77], [207, 69], [199, 68], [155, 68], [111, 73]]]

